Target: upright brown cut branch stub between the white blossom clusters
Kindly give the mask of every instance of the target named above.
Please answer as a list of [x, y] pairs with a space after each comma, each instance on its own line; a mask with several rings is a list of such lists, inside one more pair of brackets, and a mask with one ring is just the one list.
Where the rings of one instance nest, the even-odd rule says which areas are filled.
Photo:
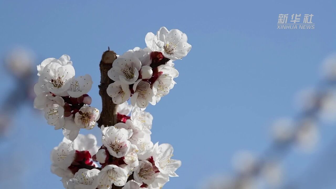
[[97, 121], [98, 127], [101, 125], [104, 126], [112, 126], [117, 123], [117, 108], [118, 105], [112, 102], [112, 98], [106, 92], [109, 84], [114, 81], [109, 78], [107, 72], [112, 68], [112, 63], [116, 60], [117, 56], [114, 51], [109, 50], [105, 51], [100, 60], [99, 68], [100, 68], [100, 85], [99, 87], [99, 95], [102, 101], [102, 110], [100, 113], [100, 118]]

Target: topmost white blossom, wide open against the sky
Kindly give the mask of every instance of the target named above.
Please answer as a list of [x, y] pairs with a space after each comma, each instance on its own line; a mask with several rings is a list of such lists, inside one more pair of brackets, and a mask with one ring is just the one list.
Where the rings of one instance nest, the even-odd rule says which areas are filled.
[[153, 51], [160, 51], [166, 58], [171, 60], [182, 59], [191, 50], [191, 45], [187, 43], [187, 35], [180, 30], [170, 30], [161, 27], [154, 35], [152, 32], [145, 37], [148, 48]]

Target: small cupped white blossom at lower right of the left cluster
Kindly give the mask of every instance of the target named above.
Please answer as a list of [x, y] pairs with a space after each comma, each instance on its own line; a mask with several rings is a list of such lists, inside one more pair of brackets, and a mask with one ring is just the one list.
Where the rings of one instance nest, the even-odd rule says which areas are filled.
[[96, 121], [99, 119], [99, 110], [91, 106], [83, 106], [79, 112], [75, 114], [75, 123], [80, 128], [92, 129]]

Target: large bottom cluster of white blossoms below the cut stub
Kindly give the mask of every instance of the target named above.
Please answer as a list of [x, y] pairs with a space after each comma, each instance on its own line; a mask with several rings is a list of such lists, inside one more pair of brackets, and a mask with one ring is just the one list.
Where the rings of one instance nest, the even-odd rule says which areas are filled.
[[161, 188], [169, 177], [177, 177], [181, 161], [171, 159], [171, 145], [151, 142], [152, 121], [150, 113], [123, 103], [118, 123], [101, 126], [100, 148], [92, 135], [79, 135], [73, 142], [64, 138], [51, 153], [52, 173], [68, 189]]

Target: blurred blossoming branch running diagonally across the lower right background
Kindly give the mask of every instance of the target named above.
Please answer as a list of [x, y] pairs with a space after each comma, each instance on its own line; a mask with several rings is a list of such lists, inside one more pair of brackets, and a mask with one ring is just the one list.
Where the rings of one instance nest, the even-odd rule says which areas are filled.
[[[319, 126], [324, 121], [335, 121], [336, 55], [327, 57], [323, 66], [322, 81], [313, 90], [304, 90], [299, 96], [301, 113], [293, 118], [281, 118], [274, 122], [273, 140], [258, 157], [250, 152], [238, 152], [233, 157], [235, 175], [226, 180], [222, 178], [221, 181], [211, 181], [221, 183], [215, 183], [213, 189], [264, 188], [265, 186], [258, 183], [260, 180], [266, 181], [266, 188], [283, 189], [321, 188], [326, 187], [328, 183], [333, 184], [332, 178], [336, 173], [334, 163], [336, 151], [333, 150], [333, 146], [336, 138], [307, 169], [304, 179], [297, 178], [285, 182], [284, 170], [281, 168], [281, 161], [291, 153], [293, 146], [298, 146], [306, 152], [313, 151], [319, 140]], [[312, 180], [316, 182], [307, 184]]]

